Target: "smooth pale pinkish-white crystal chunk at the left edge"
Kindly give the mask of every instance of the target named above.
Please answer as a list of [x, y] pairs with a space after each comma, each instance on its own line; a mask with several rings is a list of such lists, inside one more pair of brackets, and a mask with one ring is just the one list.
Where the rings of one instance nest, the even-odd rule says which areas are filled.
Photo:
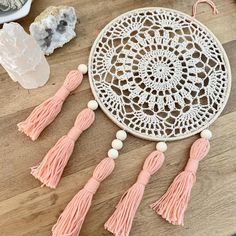
[[4, 24], [0, 30], [0, 63], [25, 89], [43, 86], [49, 79], [50, 68], [43, 52], [18, 23]]

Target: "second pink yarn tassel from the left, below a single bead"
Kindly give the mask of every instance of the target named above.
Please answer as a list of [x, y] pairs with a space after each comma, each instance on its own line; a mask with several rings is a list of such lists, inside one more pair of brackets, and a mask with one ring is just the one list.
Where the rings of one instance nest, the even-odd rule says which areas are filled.
[[86, 108], [81, 111], [76, 118], [74, 127], [67, 135], [57, 141], [39, 165], [31, 168], [31, 174], [40, 180], [43, 185], [56, 188], [74, 150], [75, 141], [83, 131], [92, 125], [94, 120], [95, 113], [93, 110]]

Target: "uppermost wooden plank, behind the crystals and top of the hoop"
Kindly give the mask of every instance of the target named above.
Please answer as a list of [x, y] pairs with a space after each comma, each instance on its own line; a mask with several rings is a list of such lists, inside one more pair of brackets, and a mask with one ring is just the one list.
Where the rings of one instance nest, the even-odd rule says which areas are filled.
[[[52, 56], [48, 57], [51, 68], [51, 77], [47, 86], [36, 90], [24, 90], [17, 83], [11, 81], [5, 71], [0, 70], [0, 116], [11, 114], [23, 109], [36, 106], [45, 97], [52, 95], [62, 84], [69, 70], [74, 69], [80, 63], [88, 60], [90, 47], [100, 30], [113, 18], [120, 14], [140, 7], [167, 7], [191, 14], [191, 7], [194, 1], [174, 1], [174, 0], [100, 0], [96, 4], [92, 0], [81, 1], [55, 1], [41, 0], [34, 3], [28, 17], [19, 22], [28, 31], [30, 22], [50, 5], [67, 4], [74, 6], [80, 18], [76, 32], [78, 37], [73, 39], [63, 48], [57, 49]], [[209, 6], [202, 4], [199, 6], [197, 19], [205, 24], [219, 38], [222, 43], [230, 42], [236, 38], [236, 24], [233, 24], [236, 17], [236, 2], [233, 0], [215, 1], [220, 11], [219, 15], [213, 16]], [[79, 91], [88, 89], [89, 83], [85, 79]], [[40, 91], [40, 92], [39, 92]]]

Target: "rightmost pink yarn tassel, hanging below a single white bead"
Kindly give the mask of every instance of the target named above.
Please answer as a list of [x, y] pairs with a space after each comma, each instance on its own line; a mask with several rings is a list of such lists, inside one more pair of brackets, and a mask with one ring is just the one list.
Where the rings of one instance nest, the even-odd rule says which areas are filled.
[[167, 192], [151, 208], [173, 225], [184, 224], [191, 189], [196, 181], [199, 161], [209, 152], [210, 143], [205, 138], [195, 141], [191, 147], [190, 158], [185, 167], [168, 188]]

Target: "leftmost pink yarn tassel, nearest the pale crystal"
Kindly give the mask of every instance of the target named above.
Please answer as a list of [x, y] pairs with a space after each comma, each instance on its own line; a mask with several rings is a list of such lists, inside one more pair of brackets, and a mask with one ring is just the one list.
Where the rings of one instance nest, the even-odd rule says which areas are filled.
[[53, 97], [48, 98], [37, 106], [25, 120], [17, 124], [19, 131], [25, 133], [35, 141], [40, 133], [56, 118], [70, 92], [82, 82], [83, 74], [72, 70], [66, 76], [64, 84]]

